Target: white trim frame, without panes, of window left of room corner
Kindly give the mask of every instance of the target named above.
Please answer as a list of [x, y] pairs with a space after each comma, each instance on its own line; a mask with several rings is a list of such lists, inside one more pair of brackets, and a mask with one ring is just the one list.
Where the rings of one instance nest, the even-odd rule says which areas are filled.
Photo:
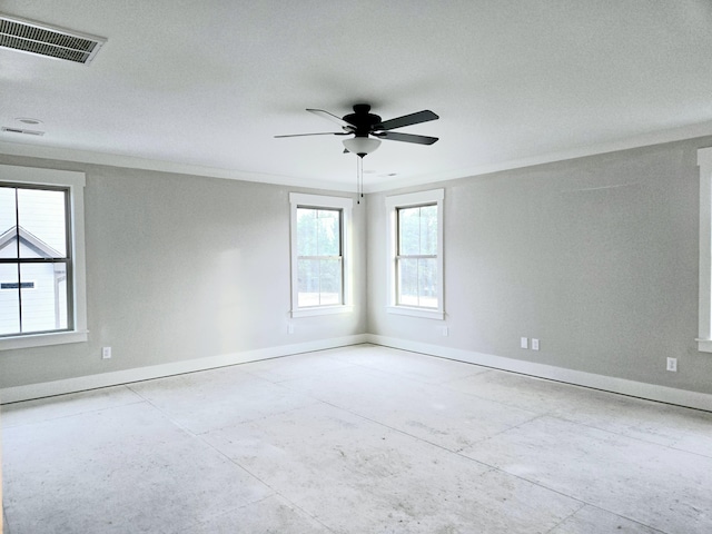
[[[354, 200], [345, 197], [307, 195], [290, 192], [291, 220], [291, 317], [310, 317], [316, 315], [345, 314], [354, 310], [353, 273], [352, 273], [352, 210]], [[343, 304], [324, 306], [298, 306], [298, 268], [297, 268], [297, 208], [336, 209], [342, 212], [342, 291]]]

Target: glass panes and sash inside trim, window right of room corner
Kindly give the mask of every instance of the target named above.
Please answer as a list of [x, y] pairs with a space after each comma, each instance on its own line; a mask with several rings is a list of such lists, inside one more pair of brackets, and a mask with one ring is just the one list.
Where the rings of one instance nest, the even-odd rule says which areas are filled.
[[396, 212], [396, 305], [437, 309], [437, 204]]

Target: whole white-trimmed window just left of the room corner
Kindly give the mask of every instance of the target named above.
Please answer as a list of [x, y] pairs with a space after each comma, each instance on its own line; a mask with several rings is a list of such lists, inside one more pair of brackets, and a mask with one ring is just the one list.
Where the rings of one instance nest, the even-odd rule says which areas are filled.
[[289, 195], [291, 316], [350, 309], [350, 198]]

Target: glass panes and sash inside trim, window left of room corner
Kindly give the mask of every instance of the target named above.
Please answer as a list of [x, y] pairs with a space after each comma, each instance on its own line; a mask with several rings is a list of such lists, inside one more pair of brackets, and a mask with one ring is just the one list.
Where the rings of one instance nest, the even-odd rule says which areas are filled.
[[297, 207], [297, 307], [344, 304], [342, 210]]

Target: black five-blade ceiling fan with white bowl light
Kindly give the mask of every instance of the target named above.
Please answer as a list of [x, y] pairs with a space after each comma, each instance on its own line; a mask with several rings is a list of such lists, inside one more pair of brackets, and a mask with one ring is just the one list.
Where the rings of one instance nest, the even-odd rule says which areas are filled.
[[[345, 139], [344, 147], [345, 152], [353, 152], [359, 158], [363, 158], [367, 154], [373, 152], [380, 145], [380, 139], [403, 142], [414, 142], [416, 145], [433, 145], [437, 141], [437, 137], [416, 136], [413, 134], [402, 134], [398, 131], [392, 131], [396, 128], [403, 128], [405, 126], [417, 125], [421, 122], [427, 122], [429, 120], [439, 119], [429, 109], [417, 111], [415, 113], [404, 115], [403, 117], [396, 117], [395, 119], [380, 120], [380, 117], [370, 112], [370, 105], [357, 103], [354, 106], [354, 112], [345, 115], [344, 117], [337, 117], [323, 109], [307, 109], [310, 113], [324, 117], [332, 122], [336, 122], [342, 127], [343, 131], [325, 131], [318, 134], [294, 134], [287, 136], [275, 136], [276, 138], [283, 137], [304, 137], [304, 136], [350, 136], [354, 137]], [[373, 137], [372, 137], [373, 136]]]

